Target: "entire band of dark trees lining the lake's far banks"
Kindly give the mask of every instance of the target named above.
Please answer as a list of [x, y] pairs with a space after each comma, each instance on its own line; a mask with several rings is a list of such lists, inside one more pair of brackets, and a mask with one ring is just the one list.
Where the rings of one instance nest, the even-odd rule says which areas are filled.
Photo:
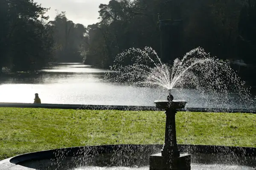
[[[68, 20], [65, 12], [47, 21], [48, 9], [33, 0], [0, 2], [0, 71], [35, 71], [49, 62], [82, 60], [109, 68], [131, 47], [150, 46], [161, 55], [161, 38], [170, 49], [163, 61], [201, 46], [220, 59], [249, 64], [236, 66], [245, 79], [256, 70], [256, 0], [110, 0], [99, 6], [100, 22], [87, 28]], [[182, 20], [179, 34], [165, 36], [162, 19]]]

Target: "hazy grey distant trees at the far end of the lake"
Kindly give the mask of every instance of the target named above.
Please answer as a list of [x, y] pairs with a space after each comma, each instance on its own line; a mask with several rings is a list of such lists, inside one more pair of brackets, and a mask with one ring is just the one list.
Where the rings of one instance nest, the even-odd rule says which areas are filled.
[[87, 51], [87, 29], [68, 20], [65, 12], [48, 22], [53, 31], [54, 56], [57, 62], [82, 62]]

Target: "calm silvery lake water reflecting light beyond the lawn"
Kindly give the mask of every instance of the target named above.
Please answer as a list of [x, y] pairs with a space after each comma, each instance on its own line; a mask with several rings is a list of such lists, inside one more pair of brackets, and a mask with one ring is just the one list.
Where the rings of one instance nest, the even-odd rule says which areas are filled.
[[[32, 103], [38, 93], [42, 103], [154, 106], [155, 100], [166, 99], [168, 95], [166, 90], [157, 88], [108, 82], [103, 77], [106, 71], [81, 63], [60, 63], [37, 75], [1, 77], [0, 102]], [[174, 89], [172, 94], [193, 108], [255, 108], [256, 105], [242, 104], [232, 92], [228, 96], [215, 96]]]

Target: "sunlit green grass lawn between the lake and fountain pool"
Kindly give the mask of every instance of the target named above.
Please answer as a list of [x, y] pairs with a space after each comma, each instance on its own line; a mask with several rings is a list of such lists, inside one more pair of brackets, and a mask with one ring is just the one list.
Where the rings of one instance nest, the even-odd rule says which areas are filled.
[[[179, 112], [179, 144], [256, 147], [256, 114]], [[17, 154], [98, 144], [163, 144], [165, 114], [0, 108], [0, 160]]]

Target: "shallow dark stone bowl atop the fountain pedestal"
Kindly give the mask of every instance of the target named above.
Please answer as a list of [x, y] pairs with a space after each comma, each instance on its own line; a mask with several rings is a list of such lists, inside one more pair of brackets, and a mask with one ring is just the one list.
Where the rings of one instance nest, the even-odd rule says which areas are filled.
[[156, 107], [159, 109], [164, 109], [164, 110], [176, 110], [176, 109], [182, 109], [185, 108], [186, 101], [177, 101], [173, 100], [172, 102], [166, 101], [155, 101]]

